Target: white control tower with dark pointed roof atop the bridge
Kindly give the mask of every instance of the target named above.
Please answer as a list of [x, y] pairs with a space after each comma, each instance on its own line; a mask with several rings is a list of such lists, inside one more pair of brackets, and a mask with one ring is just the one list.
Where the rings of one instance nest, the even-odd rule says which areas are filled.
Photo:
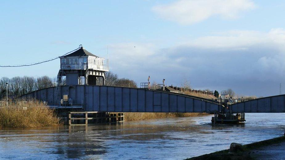
[[[104, 64], [104, 58], [100, 58], [81, 47], [74, 52], [60, 58], [60, 73], [58, 82], [61, 77], [66, 76], [66, 85], [79, 85], [84, 79], [85, 85], [98, 85], [98, 78], [103, 78], [105, 85], [105, 72], [108, 72], [108, 64]], [[60, 77], [60, 78], [59, 78]], [[60, 79], [60, 81], [59, 81]]]

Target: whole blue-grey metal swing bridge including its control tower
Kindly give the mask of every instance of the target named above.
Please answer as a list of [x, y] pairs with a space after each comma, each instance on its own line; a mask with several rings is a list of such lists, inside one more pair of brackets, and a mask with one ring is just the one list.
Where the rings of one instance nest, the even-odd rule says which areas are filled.
[[[208, 112], [221, 110], [218, 101], [173, 92], [104, 86], [108, 72], [104, 58], [79, 47], [60, 58], [57, 86], [36, 90], [21, 98], [38, 99], [53, 108], [98, 112]], [[66, 83], [62, 86], [62, 78]], [[103, 86], [99, 86], [102, 78]], [[83, 82], [84, 81], [84, 82]], [[80, 85], [84, 84], [84, 85]], [[148, 82], [149, 85], [149, 82]], [[230, 105], [232, 112], [285, 112], [284, 95]]]

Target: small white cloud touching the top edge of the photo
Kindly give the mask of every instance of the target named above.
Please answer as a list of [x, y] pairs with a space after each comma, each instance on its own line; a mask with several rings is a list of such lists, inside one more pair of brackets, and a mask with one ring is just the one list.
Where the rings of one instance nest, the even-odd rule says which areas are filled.
[[250, 0], [179, 0], [166, 5], [154, 6], [153, 11], [161, 18], [189, 25], [212, 16], [237, 18], [240, 12], [255, 7]]

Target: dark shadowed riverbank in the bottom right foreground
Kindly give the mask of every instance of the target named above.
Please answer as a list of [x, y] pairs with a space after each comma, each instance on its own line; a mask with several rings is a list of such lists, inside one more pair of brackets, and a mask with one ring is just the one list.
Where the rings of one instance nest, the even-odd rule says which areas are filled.
[[237, 153], [230, 153], [230, 150], [204, 154], [202, 156], [189, 158], [187, 160], [198, 159], [220, 159], [220, 160], [251, 160], [251, 159], [285, 159], [285, 136], [272, 138], [260, 142], [243, 145]]

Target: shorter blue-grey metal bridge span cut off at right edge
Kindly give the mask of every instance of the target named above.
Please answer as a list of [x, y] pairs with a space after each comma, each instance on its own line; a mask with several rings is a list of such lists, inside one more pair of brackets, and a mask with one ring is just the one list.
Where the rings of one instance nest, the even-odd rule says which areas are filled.
[[233, 112], [281, 113], [285, 112], [285, 95], [258, 98], [231, 105]]

